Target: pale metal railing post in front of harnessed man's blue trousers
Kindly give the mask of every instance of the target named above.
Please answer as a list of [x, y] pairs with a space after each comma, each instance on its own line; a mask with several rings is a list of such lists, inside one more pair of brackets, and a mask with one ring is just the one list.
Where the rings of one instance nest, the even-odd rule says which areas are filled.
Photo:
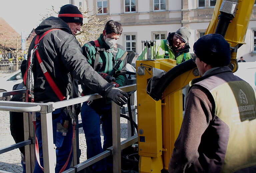
[[55, 173], [56, 147], [53, 144], [52, 113], [41, 113], [44, 172]]

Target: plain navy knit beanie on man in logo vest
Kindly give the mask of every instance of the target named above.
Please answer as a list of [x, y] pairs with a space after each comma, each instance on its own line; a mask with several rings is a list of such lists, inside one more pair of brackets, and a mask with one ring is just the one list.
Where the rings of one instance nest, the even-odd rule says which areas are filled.
[[193, 48], [196, 56], [206, 64], [223, 67], [230, 63], [229, 43], [220, 34], [207, 34], [200, 37]]

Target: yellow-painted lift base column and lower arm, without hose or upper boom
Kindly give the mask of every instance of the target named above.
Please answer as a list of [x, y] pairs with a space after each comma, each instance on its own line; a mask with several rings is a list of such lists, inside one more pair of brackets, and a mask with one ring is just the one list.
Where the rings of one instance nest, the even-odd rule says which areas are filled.
[[[136, 61], [137, 68], [141, 65], [168, 72], [176, 66], [176, 61]], [[145, 75], [137, 75], [138, 129], [143, 130], [143, 134], [138, 134], [140, 173], [160, 173], [159, 170], [168, 169], [174, 142], [182, 123], [182, 88], [195, 78], [193, 70], [177, 74], [177, 78], [165, 89], [163, 99], [155, 101], [146, 92], [147, 82], [151, 77], [152, 70], [145, 70]]]

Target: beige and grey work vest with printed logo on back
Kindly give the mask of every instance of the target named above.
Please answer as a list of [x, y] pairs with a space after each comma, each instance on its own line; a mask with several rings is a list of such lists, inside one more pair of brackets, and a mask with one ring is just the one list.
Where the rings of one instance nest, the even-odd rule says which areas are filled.
[[[256, 165], [256, 99], [254, 89], [231, 72], [211, 76], [194, 85], [200, 85], [209, 90], [215, 101], [215, 118], [219, 118], [229, 128], [221, 172], [233, 173]], [[215, 128], [217, 129], [216, 133], [228, 132], [224, 128], [218, 130], [221, 125], [215, 125]], [[223, 147], [223, 143], [225, 142], [220, 141], [219, 146]]]

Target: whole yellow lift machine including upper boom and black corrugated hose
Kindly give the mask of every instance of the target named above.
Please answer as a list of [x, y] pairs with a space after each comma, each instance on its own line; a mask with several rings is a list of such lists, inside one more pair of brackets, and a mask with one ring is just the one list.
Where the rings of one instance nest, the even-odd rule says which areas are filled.
[[[221, 34], [230, 44], [233, 72], [238, 68], [237, 49], [245, 44], [245, 34], [255, 0], [217, 0], [212, 20], [205, 34]], [[176, 65], [173, 59], [136, 61], [139, 172], [160, 173], [168, 163], [179, 134], [182, 114], [182, 89], [199, 76], [192, 60]], [[151, 93], [147, 84], [155, 69], [167, 72]]]

